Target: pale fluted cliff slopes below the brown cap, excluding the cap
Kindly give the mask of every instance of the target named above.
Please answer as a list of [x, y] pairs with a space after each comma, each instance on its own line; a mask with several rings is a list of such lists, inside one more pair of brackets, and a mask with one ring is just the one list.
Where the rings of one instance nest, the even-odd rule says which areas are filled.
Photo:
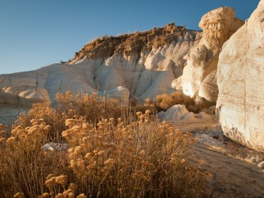
[[157, 94], [174, 90], [172, 81], [182, 75], [183, 57], [199, 41], [201, 33], [179, 34], [178, 40], [128, 56], [113, 53], [106, 58], [76, 59], [69, 65], [54, 64], [31, 72], [0, 75], [0, 89], [17, 85], [45, 88], [52, 101], [58, 92], [101, 93], [122, 86], [136, 99], [154, 99]]

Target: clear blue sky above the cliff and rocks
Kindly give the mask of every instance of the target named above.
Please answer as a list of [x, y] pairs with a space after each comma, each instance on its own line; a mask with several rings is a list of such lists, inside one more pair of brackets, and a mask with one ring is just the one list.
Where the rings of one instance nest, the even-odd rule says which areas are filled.
[[199, 29], [222, 6], [247, 19], [259, 0], [0, 0], [0, 74], [69, 60], [101, 35], [145, 31], [175, 22]]

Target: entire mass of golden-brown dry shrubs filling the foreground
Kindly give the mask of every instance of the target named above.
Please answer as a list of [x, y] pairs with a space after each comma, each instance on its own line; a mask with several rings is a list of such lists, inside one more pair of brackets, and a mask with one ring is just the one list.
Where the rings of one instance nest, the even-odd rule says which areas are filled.
[[[34, 105], [10, 137], [0, 125], [0, 197], [205, 196], [208, 175], [186, 160], [190, 133], [97, 95], [57, 102]], [[51, 140], [69, 149], [44, 151]]]

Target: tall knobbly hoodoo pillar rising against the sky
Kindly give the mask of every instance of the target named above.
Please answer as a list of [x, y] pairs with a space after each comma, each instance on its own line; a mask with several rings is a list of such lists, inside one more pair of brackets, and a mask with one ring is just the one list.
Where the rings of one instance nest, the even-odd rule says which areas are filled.
[[202, 38], [185, 56], [187, 65], [183, 69], [183, 93], [191, 97], [197, 94], [202, 81], [217, 69], [218, 56], [222, 45], [244, 22], [235, 18], [235, 10], [222, 7], [212, 10], [201, 18], [199, 27], [203, 29]]

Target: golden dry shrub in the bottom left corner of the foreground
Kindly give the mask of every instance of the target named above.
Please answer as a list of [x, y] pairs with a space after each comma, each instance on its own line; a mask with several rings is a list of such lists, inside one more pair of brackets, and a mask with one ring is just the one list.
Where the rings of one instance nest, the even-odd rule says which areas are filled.
[[14, 192], [38, 197], [44, 192], [48, 172], [63, 170], [65, 153], [42, 149], [49, 129], [43, 119], [32, 119], [26, 127], [16, 126], [11, 137], [0, 142], [0, 197], [12, 197]]

